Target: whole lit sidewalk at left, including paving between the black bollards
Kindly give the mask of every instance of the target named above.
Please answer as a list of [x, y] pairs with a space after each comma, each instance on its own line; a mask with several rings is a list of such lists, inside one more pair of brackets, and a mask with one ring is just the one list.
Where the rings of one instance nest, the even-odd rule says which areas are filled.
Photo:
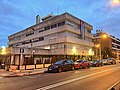
[[43, 64], [36, 65], [39, 69], [34, 69], [35, 65], [27, 65], [27, 70], [25, 70], [25, 66], [20, 66], [21, 70], [17, 70], [17, 66], [11, 65], [11, 70], [6, 71], [4, 69], [0, 69], [0, 77], [17, 77], [17, 76], [28, 76], [28, 75], [36, 75], [47, 72], [47, 67], [50, 64], [46, 64], [45, 68], [43, 68]]

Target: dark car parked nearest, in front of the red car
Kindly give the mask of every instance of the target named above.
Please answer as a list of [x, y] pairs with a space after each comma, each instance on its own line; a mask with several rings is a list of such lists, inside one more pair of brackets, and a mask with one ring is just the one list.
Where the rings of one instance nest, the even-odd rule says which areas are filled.
[[48, 72], [62, 72], [68, 70], [74, 70], [73, 60], [60, 60], [48, 67]]

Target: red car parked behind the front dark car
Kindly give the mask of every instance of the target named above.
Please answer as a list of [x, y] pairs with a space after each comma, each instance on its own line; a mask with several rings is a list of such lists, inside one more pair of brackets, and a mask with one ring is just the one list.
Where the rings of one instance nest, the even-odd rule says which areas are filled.
[[80, 68], [89, 68], [90, 67], [90, 62], [88, 60], [76, 60], [74, 62], [74, 67], [75, 69], [80, 69]]

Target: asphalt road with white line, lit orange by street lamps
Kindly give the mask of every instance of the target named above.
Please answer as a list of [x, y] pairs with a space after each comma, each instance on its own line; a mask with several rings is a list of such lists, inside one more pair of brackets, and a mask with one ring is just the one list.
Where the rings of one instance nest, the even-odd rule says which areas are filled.
[[0, 90], [107, 90], [120, 80], [120, 63], [62, 73], [0, 78]]

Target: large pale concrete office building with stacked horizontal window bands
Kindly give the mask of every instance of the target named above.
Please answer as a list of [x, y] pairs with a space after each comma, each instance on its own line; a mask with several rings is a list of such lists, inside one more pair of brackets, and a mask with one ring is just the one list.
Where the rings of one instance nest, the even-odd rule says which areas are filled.
[[21, 63], [31, 55], [38, 61], [91, 56], [94, 54], [92, 29], [90, 24], [69, 13], [49, 14], [41, 19], [37, 15], [35, 25], [8, 37], [11, 62], [17, 64], [21, 54]]

